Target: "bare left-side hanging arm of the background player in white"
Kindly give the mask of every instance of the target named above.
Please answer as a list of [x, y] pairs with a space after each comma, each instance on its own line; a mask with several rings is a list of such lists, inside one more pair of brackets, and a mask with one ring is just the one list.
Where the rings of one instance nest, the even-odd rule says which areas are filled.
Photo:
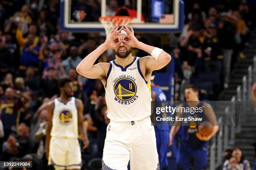
[[46, 153], [46, 159], [48, 160], [49, 146], [50, 146], [50, 140], [51, 140], [52, 115], [53, 115], [53, 110], [54, 110], [54, 101], [50, 101], [48, 103], [46, 110], [47, 110], [48, 123], [47, 123], [47, 128], [46, 128], [45, 153]]

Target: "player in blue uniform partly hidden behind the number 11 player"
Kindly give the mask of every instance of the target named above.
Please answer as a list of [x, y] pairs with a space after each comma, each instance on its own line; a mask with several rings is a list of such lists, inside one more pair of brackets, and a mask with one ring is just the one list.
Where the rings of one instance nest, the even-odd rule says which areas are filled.
[[[154, 84], [154, 72], [152, 72], [151, 76], [151, 98], [153, 101], [166, 101], [166, 96], [164, 92], [160, 89], [158, 85]], [[167, 117], [166, 114], [160, 115], [160, 117]], [[156, 148], [159, 157], [160, 170], [167, 170], [168, 161], [167, 161], [167, 152], [169, 152], [169, 132], [171, 126], [169, 126], [168, 122], [164, 125], [162, 122], [160, 125], [156, 125], [155, 127], [156, 133]], [[172, 145], [172, 152], [175, 148], [176, 143], [174, 141], [174, 145]]]

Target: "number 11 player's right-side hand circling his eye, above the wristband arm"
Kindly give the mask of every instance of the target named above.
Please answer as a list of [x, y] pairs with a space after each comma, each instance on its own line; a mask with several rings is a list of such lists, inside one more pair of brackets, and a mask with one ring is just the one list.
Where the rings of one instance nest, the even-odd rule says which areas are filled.
[[130, 27], [131, 30], [125, 26], [122, 29], [126, 32], [127, 35], [123, 36], [123, 39], [121, 40], [126, 45], [129, 45], [130, 47], [137, 47], [139, 40], [134, 36], [133, 28]]

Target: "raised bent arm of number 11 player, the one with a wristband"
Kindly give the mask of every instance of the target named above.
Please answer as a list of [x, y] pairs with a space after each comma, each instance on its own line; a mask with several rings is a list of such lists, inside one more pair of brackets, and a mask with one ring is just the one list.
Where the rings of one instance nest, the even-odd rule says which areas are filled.
[[[131, 47], [135, 47], [143, 51], [146, 51], [149, 54], [152, 53], [155, 47], [138, 41], [137, 38], [134, 36], [134, 31], [132, 27], [130, 27], [131, 30], [129, 30], [126, 26], [124, 28], [122, 27], [122, 29], [127, 33], [127, 35], [123, 37], [123, 40], [122, 40], [123, 43]], [[147, 56], [147, 57], [141, 58], [140, 61], [146, 60], [144, 67], [146, 67], [146, 70], [149, 69], [152, 72], [154, 70], [159, 70], [164, 66], [166, 66], [171, 61], [171, 59], [172, 59], [171, 55], [169, 55], [165, 51], [162, 51], [159, 54], [159, 57], [157, 60], [152, 56]]]

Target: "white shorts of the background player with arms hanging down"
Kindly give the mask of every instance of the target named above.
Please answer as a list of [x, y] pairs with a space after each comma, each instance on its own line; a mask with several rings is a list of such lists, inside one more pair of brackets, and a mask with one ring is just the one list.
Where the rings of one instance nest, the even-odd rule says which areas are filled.
[[82, 158], [78, 139], [51, 137], [48, 165], [56, 170], [81, 169]]

